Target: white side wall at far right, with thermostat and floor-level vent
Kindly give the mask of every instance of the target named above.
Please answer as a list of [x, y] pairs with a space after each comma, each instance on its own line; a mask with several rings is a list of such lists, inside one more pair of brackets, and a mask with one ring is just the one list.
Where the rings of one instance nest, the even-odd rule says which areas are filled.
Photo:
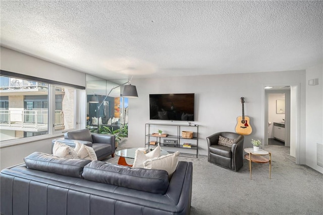
[[[306, 165], [323, 173], [316, 164], [316, 144], [323, 144], [323, 65], [306, 70]], [[318, 85], [308, 85], [308, 80], [318, 78]]]

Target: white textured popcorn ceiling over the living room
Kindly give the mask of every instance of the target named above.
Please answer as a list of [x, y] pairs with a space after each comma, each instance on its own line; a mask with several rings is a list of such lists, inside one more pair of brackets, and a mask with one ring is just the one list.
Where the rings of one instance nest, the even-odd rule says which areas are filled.
[[322, 63], [322, 1], [1, 1], [1, 44], [106, 79]]

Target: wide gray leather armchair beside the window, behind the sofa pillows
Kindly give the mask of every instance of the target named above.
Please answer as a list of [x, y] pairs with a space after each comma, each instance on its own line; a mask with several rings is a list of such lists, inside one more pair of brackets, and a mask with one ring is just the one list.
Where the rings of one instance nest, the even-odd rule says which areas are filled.
[[55, 142], [62, 142], [71, 147], [75, 147], [75, 141], [94, 149], [98, 160], [107, 156], [115, 157], [115, 136], [109, 134], [93, 134], [89, 129], [69, 131], [64, 134], [64, 138], [52, 140], [52, 146]]

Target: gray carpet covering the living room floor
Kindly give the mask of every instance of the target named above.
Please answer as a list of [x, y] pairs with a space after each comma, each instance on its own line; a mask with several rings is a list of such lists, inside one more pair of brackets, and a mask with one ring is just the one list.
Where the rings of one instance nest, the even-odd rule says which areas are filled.
[[[268, 164], [252, 163], [250, 180], [247, 160], [233, 172], [208, 163], [204, 155], [181, 156], [193, 163], [191, 214], [323, 214], [323, 174], [296, 165], [289, 147], [268, 145], [265, 150], [272, 152], [271, 180]], [[105, 161], [117, 163], [118, 158]]]

